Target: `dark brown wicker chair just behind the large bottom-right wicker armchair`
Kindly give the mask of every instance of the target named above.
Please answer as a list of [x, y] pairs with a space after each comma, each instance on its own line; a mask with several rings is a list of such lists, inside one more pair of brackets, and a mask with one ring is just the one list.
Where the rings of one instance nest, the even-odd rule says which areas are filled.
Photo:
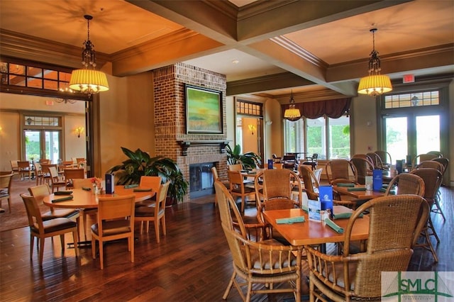
[[[410, 173], [415, 174], [423, 179], [425, 188], [423, 197], [426, 199], [429, 208], [432, 208], [436, 200], [437, 191], [441, 186], [441, 172], [439, 172], [437, 169], [421, 168], [414, 169]], [[438, 256], [435, 249], [433, 248], [430, 236], [434, 236], [437, 242], [440, 242], [440, 238], [438, 238], [435, 228], [433, 228], [431, 216], [428, 216], [426, 227], [423, 229], [422, 235], [425, 240], [423, 240], [423, 242], [420, 242], [416, 246], [425, 247], [427, 250], [430, 250], [432, 252], [433, 259], [438, 262]]]

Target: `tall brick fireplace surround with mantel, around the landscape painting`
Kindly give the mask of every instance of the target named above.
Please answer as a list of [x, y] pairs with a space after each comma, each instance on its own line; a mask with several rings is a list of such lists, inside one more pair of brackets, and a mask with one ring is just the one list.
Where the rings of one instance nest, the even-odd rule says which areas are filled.
[[[222, 91], [223, 134], [187, 134], [184, 84]], [[226, 154], [226, 76], [184, 63], [153, 70], [155, 99], [156, 155], [175, 160], [184, 179], [191, 181], [191, 164], [214, 164], [219, 177], [225, 178]], [[191, 187], [191, 184], [189, 185]], [[194, 188], [194, 184], [192, 185]], [[190, 192], [184, 198], [189, 201]], [[193, 194], [194, 195], [194, 194]]]

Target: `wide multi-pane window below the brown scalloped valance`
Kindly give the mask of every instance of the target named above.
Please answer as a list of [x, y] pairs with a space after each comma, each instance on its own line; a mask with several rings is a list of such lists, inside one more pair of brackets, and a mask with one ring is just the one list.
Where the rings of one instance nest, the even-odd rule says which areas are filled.
[[284, 152], [317, 153], [319, 159], [349, 158], [350, 116], [284, 120]]

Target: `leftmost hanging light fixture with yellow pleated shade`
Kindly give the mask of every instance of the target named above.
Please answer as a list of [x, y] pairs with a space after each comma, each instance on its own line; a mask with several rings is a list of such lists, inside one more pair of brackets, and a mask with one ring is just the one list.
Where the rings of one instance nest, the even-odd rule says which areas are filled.
[[87, 19], [87, 40], [84, 42], [84, 49], [82, 50], [82, 69], [72, 71], [70, 79], [70, 89], [81, 91], [91, 96], [101, 91], [109, 90], [107, 77], [104, 72], [96, 69], [96, 55], [94, 52], [94, 45], [90, 41], [90, 20], [92, 16], [85, 15]]

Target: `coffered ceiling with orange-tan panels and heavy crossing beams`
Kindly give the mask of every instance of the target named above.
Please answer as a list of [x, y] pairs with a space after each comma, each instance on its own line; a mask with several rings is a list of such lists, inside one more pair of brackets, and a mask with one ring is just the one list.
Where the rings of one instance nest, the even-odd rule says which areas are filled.
[[[336, 11], [338, 4], [347, 7], [345, 3], [348, 1], [298, 1], [304, 10], [286, 11], [293, 2], [231, 0], [230, 5], [225, 6], [226, 3], [216, 1], [0, 0], [0, 28], [82, 47], [87, 39], [87, 22], [83, 15], [90, 14], [94, 16], [90, 23], [90, 40], [96, 52], [113, 56], [189, 28], [223, 45], [194, 50], [173, 60], [226, 74], [228, 82], [291, 72], [317, 84], [306, 86], [309, 89], [326, 87], [348, 94], [347, 91], [352, 89], [338, 87], [344, 82], [357, 83], [359, 77], [367, 75], [367, 58], [372, 50], [369, 30], [376, 27], [375, 48], [382, 57], [383, 72], [390, 74], [392, 79], [406, 73], [454, 72], [454, 57], [444, 58], [443, 62], [433, 65], [427, 61], [420, 66], [401, 67], [391, 61], [395, 55], [428, 47], [435, 49], [449, 45], [452, 51], [452, 0], [358, 0], [350, 1], [357, 7], [339, 11]], [[360, 6], [362, 2], [370, 5]], [[181, 4], [181, 10], [177, 3]], [[203, 13], [200, 13], [201, 3], [204, 3]], [[399, 4], [394, 5], [396, 3]], [[222, 11], [223, 6], [226, 11]], [[211, 15], [206, 13], [210, 10]], [[226, 33], [228, 26], [225, 23], [231, 11], [238, 13], [238, 24], [246, 24], [244, 28], [238, 26], [238, 36], [245, 33], [242, 40]], [[249, 19], [253, 20], [260, 14], [266, 21], [262, 19], [247, 25]], [[272, 18], [266, 19], [266, 16]], [[286, 24], [287, 20], [289, 24]], [[287, 38], [287, 48], [282, 54], [282, 47], [275, 50], [276, 44], [270, 44], [269, 39], [274, 36]], [[297, 57], [293, 57], [294, 54]], [[162, 64], [169, 62], [162, 60]], [[159, 62], [148, 65], [157, 66]], [[337, 75], [332, 76], [333, 80], [328, 79], [331, 67], [341, 68]], [[289, 94], [289, 89], [298, 91], [298, 86], [251, 92], [276, 96]], [[304, 91], [301, 87], [300, 90]]]

